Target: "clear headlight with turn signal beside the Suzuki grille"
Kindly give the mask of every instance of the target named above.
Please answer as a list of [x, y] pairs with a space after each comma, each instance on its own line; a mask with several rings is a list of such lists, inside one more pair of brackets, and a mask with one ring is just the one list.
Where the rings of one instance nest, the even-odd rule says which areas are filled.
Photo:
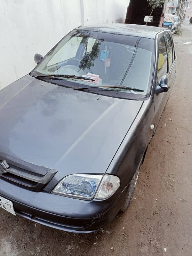
[[113, 175], [72, 174], [63, 178], [52, 193], [82, 199], [105, 199], [119, 186], [119, 178]]

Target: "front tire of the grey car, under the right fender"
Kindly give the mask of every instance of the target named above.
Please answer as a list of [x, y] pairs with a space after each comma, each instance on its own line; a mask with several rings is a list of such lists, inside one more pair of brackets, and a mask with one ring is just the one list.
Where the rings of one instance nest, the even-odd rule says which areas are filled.
[[136, 170], [135, 174], [133, 175], [131, 183], [130, 183], [128, 189], [127, 189], [125, 199], [124, 199], [124, 202], [123, 202], [122, 207], [121, 207], [122, 212], [125, 212], [128, 209], [128, 207], [131, 203], [133, 193], [134, 193], [134, 190], [135, 190], [135, 186], [137, 184], [137, 180], [138, 180], [138, 176], [139, 176], [139, 170], [140, 170], [140, 166], [141, 166], [141, 163], [142, 163], [142, 159], [141, 159], [140, 164], [137, 167], [137, 170]]

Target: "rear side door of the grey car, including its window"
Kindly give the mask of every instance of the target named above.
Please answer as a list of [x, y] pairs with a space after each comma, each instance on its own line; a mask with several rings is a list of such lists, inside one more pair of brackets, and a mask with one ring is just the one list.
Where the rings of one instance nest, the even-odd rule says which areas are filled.
[[171, 33], [167, 33], [164, 35], [165, 43], [167, 46], [167, 54], [168, 54], [168, 81], [169, 81], [169, 92], [168, 98], [171, 94], [171, 90], [176, 77], [176, 56], [174, 50], [174, 44], [172, 40]]

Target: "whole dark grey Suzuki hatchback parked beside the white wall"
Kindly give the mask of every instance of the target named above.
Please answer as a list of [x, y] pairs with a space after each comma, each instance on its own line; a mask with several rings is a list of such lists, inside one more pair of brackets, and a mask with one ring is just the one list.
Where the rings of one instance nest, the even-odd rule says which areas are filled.
[[171, 32], [72, 30], [0, 91], [0, 207], [91, 233], [126, 211], [176, 76]]

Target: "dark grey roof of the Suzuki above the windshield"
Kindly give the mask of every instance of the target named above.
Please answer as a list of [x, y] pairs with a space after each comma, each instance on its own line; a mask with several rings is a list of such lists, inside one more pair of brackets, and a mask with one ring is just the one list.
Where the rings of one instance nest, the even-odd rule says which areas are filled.
[[101, 24], [96, 26], [80, 26], [76, 29], [97, 31], [103, 33], [122, 34], [128, 36], [140, 36], [152, 39], [156, 38], [156, 34], [163, 31], [167, 31], [166, 28], [124, 23]]

